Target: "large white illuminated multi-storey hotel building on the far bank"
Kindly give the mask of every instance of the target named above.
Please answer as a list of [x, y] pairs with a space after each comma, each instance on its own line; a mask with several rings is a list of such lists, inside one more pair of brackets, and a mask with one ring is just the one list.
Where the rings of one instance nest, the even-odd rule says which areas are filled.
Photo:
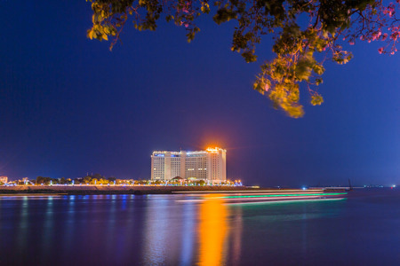
[[219, 183], [227, 180], [227, 151], [207, 148], [196, 152], [156, 151], [151, 155], [151, 180], [185, 179]]

